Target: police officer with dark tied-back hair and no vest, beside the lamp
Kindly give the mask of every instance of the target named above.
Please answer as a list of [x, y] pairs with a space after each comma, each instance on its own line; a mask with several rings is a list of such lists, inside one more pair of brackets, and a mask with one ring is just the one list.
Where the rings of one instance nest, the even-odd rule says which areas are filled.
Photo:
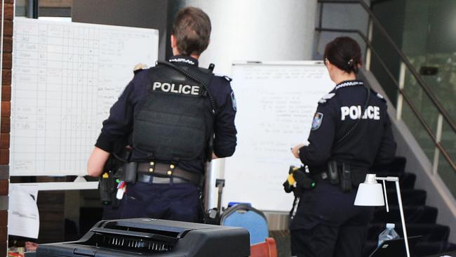
[[361, 256], [372, 207], [354, 206], [356, 187], [373, 166], [391, 162], [396, 143], [382, 95], [356, 79], [361, 49], [349, 37], [326, 45], [325, 65], [336, 86], [318, 101], [308, 145], [293, 147], [309, 166], [313, 190], [290, 212], [296, 256]]

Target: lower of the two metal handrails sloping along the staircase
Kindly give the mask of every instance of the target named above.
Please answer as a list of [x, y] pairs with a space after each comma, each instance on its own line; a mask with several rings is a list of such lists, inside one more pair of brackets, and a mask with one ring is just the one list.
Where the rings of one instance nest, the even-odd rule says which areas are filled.
[[382, 66], [384, 71], [387, 72], [388, 77], [397, 86], [399, 93], [401, 93], [401, 95], [403, 96], [405, 102], [408, 103], [408, 105], [410, 106], [410, 109], [415, 114], [415, 116], [417, 117], [418, 121], [420, 121], [420, 123], [422, 124], [424, 129], [427, 131], [427, 133], [429, 134], [429, 136], [433, 140], [433, 142], [436, 145], [436, 147], [438, 147], [438, 150], [440, 150], [442, 152], [443, 157], [445, 157], [445, 159], [448, 161], [448, 163], [452, 167], [453, 171], [456, 171], [456, 164], [452, 161], [450, 155], [448, 154], [448, 152], [446, 152], [446, 150], [443, 148], [441, 143], [438, 142], [438, 140], [436, 140], [436, 136], [432, 132], [431, 128], [427, 125], [426, 121], [424, 121], [424, 118], [422, 117], [420, 112], [418, 112], [418, 110], [415, 107], [415, 105], [413, 105], [413, 103], [410, 100], [410, 98], [408, 98], [408, 96], [405, 94], [403, 89], [399, 86], [398, 81], [396, 80], [396, 78], [394, 78], [394, 75], [391, 74], [391, 72], [388, 70], [387, 65], [380, 58], [380, 55], [377, 53], [377, 51], [375, 51], [375, 49], [373, 48], [372, 44], [370, 44], [369, 39], [368, 39], [368, 37], [366, 37], [365, 34], [363, 34], [363, 32], [361, 32], [361, 31], [359, 31], [357, 29], [328, 29], [328, 28], [323, 28], [323, 27], [316, 27], [315, 30], [316, 31], [320, 31], [320, 32], [345, 32], [345, 33], [356, 33], [356, 34], [358, 34], [361, 37], [361, 39], [363, 39], [363, 41], [366, 42], [366, 46], [368, 46], [368, 48], [370, 48], [370, 51], [372, 51], [374, 53], [374, 55], [377, 57], [377, 60], [380, 62], [380, 65]]

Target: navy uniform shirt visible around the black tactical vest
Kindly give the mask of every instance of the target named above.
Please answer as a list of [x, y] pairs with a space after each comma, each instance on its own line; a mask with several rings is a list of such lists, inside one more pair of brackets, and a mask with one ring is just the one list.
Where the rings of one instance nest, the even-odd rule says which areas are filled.
[[[194, 65], [198, 66], [198, 60], [185, 56], [177, 55], [170, 58], [178, 66]], [[109, 118], [103, 121], [103, 127], [98, 137], [96, 147], [112, 152], [116, 142], [125, 141], [133, 131], [133, 117], [138, 112], [138, 103], [147, 95], [148, 72], [136, 72], [135, 77], [126, 86], [125, 90], [116, 103], [111, 107]], [[214, 121], [215, 139], [213, 142], [214, 153], [217, 157], [232, 156], [236, 148], [236, 127], [234, 126], [234, 116], [236, 114], [236, 100], [229, 84], [228, 77], [214, 76], [208, 88], [218, 105], [218, 112]], [[145, 154], [133, 150], [131, 161], [149, 161]], [[202, 159], [195, 159], [189, 162], [177, 164], [181, 169], [192, 172], [203, 173], [204, 164]]]

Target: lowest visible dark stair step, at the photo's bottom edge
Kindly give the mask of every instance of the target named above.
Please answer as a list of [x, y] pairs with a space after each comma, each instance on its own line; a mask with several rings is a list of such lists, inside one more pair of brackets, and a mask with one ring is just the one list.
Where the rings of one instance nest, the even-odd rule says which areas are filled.
[[[363, 249], [363, 256], [368, 257], [375, 248], [377, 248], [377, 242], [366, 242], [366, 245]], [[404, 250], [405, 251], [405, 250]], [[415, 248], [410, 249], [410, 256], [414, 257], [425, 257], [433, 256], [438, 253], [446, 253], [449, 251], [456, 251], [456, 244], [451, 244], [448, 242], [418, 242]]]

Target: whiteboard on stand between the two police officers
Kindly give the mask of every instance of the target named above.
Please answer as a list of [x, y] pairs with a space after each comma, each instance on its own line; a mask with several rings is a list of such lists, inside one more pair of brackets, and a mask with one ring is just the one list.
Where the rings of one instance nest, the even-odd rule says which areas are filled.
[[239, 62], [232, 66], [236, 95], [236, 152], [226, 159], [222, 203], [249, 202], [262, 211], [290, 211], [283, 191], [290, 151], [307, 142], [318, 100], [335, 86], [323, 62]]

